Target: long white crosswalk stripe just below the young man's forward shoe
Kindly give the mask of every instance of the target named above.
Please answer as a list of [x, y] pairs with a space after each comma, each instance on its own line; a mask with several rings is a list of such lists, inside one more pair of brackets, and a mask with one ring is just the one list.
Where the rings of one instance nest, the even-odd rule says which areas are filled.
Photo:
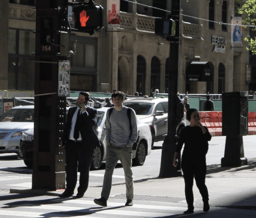
[[[24, 206], [28, 205], [28, 206]], [[53, 205], [33, 205], [33, 204], [21, 204], [15, 205], [16, 207], [28, 208], [28, 209], [48, 209], [48, 210], [60, 210], [60, 211], [74, 211], [75, 210], [87, 210], [84, 207], [69, 207], [69, 206], [53, 206]], [[95, 205], [97, 207], [97, 205]], [[99, 209], [97, 209], [99, 210]], [[89, 210], [92, 212], [92, 209]], [[155, 213], [155, 212], [140, 212], [140, 211], [125, 211], [125, 210], [109, 210], [102, 209], [101, 211], [95, 211], [94, 213], [102, 214], [112, 214], [112, 215], [126, 215], [126, 216], [144, 216], [144, 217], [161, 217], [161, 216], [171, 216], [174, 214], [170, 213]]]

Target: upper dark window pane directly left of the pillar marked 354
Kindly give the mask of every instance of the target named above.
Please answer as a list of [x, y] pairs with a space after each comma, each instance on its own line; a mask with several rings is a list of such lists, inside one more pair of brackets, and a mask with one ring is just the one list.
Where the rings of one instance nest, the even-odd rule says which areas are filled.
[[32, 55], [35, 52], [36, 35], [32, 31], [19, 31], [19, 54]]

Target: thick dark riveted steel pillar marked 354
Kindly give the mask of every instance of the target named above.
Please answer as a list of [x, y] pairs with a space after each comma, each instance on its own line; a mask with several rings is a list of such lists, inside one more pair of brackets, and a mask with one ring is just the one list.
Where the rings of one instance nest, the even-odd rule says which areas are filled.
[[[58, 96], [61, 33], [68, 34], [68, 0], [36, 0], [35, 122], [32, 189], [65, 188], [66, 97]], [[68, 53], [68, 52], [67, 52]]]

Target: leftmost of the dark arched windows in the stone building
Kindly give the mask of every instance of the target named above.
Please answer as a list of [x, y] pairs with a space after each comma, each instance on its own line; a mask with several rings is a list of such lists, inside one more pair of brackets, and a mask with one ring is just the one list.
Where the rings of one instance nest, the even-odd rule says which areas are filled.
[[139, 55], [137, 57], [137, 81], [136, 81], [136, 92], [145, 95], [145, 76], [146, 75], [146, 60], [144, 57]]

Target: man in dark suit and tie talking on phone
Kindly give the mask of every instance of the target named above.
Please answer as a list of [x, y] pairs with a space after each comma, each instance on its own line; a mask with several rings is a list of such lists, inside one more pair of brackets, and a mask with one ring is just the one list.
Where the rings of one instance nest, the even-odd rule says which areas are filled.
[[77, 106], [68, 110], [61, 146], [66, 149], [66, 190], [59, 197], [71, 197], [77, 184], [77, 164], [80, 169], [77, 197], [84, 196], [89, 184], [89, 170], [93, 151], [100, 146], [94, 126], [97, 122], [97, 110], [87, 106], [89, 93], [80, 92]]

